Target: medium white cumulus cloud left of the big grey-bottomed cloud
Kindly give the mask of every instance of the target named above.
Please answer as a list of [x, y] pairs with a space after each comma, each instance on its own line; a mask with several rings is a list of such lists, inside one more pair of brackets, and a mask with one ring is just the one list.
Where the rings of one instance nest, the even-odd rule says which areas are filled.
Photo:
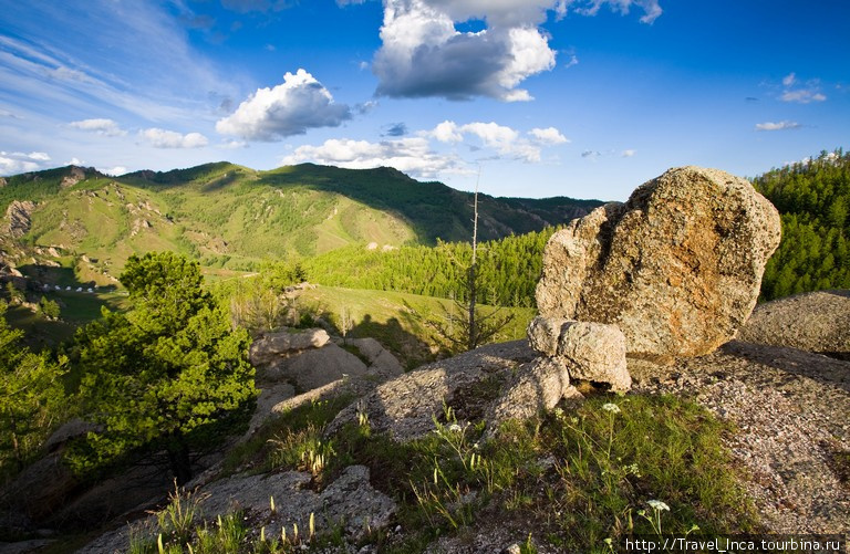
[[272, 142], [303, 135], [313, 127], [338, 127], [351, 118], [351, 108], [336, 104], [331, 93], [310, 73], [287, 73], [283, 83], [259, 88], [228, 117], [216, 123], [222, 135]]

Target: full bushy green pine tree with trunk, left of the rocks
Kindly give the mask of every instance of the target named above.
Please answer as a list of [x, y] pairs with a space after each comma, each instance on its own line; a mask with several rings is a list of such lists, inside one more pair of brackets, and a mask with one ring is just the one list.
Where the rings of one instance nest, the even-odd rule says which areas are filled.
[[164, 449], [178, 483], [193, 477], [193, 433], [256, 396], [250, 339], [201, 286], [198, 264], [172, 252], [131, 257], [121, 282], [125, 314], [77, 332], [81, 394], [104, 431], [89, 457], [111, 461], [139, 447]]

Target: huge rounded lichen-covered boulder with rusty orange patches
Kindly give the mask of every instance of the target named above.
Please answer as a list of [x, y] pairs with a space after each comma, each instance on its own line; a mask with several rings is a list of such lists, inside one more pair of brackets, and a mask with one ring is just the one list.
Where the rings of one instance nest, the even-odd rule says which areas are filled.
[[537, 305], [616, 324], [630, 356], [672, 362], [735, 335], [779, 244], [776, 208], [738, 177], [682, 167], [552, 236]]

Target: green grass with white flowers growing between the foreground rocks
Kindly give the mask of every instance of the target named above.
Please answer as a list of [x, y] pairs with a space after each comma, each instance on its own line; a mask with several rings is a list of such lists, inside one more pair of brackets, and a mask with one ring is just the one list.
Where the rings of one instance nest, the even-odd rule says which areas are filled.
[[536, 541], [608, 552], [607, 540], [620, 551], [631, 534], [758, 529], [723, 446], [732, 429], [675, 397], [590, 398], [539, 421], [508, 422], [491, 440], [483, 425], [460, 425], [452, 408], [435, 415], [435, 432], [406, 443], [373, 433], [366, 417], [323, 437], [328, 420], [326, 405], [281, 419], [277, 439], [252, 454], [255, 468], [310, 470], [304, 454], [322, 450], [314, 483], [324, 485], [344, 467], [365, 464], [410, 530], [402, 539], [375, 537], [381, 552], [422, 552], [483, 521], [532, 534], [529, 552]]

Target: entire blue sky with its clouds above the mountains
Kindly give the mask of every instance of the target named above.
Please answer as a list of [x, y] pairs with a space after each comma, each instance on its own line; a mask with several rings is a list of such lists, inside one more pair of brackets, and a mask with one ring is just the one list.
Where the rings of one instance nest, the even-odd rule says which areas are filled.
[[396, 167], [624, 200], [850, 146], [847, 0], [0, 0], [0, 175]]

